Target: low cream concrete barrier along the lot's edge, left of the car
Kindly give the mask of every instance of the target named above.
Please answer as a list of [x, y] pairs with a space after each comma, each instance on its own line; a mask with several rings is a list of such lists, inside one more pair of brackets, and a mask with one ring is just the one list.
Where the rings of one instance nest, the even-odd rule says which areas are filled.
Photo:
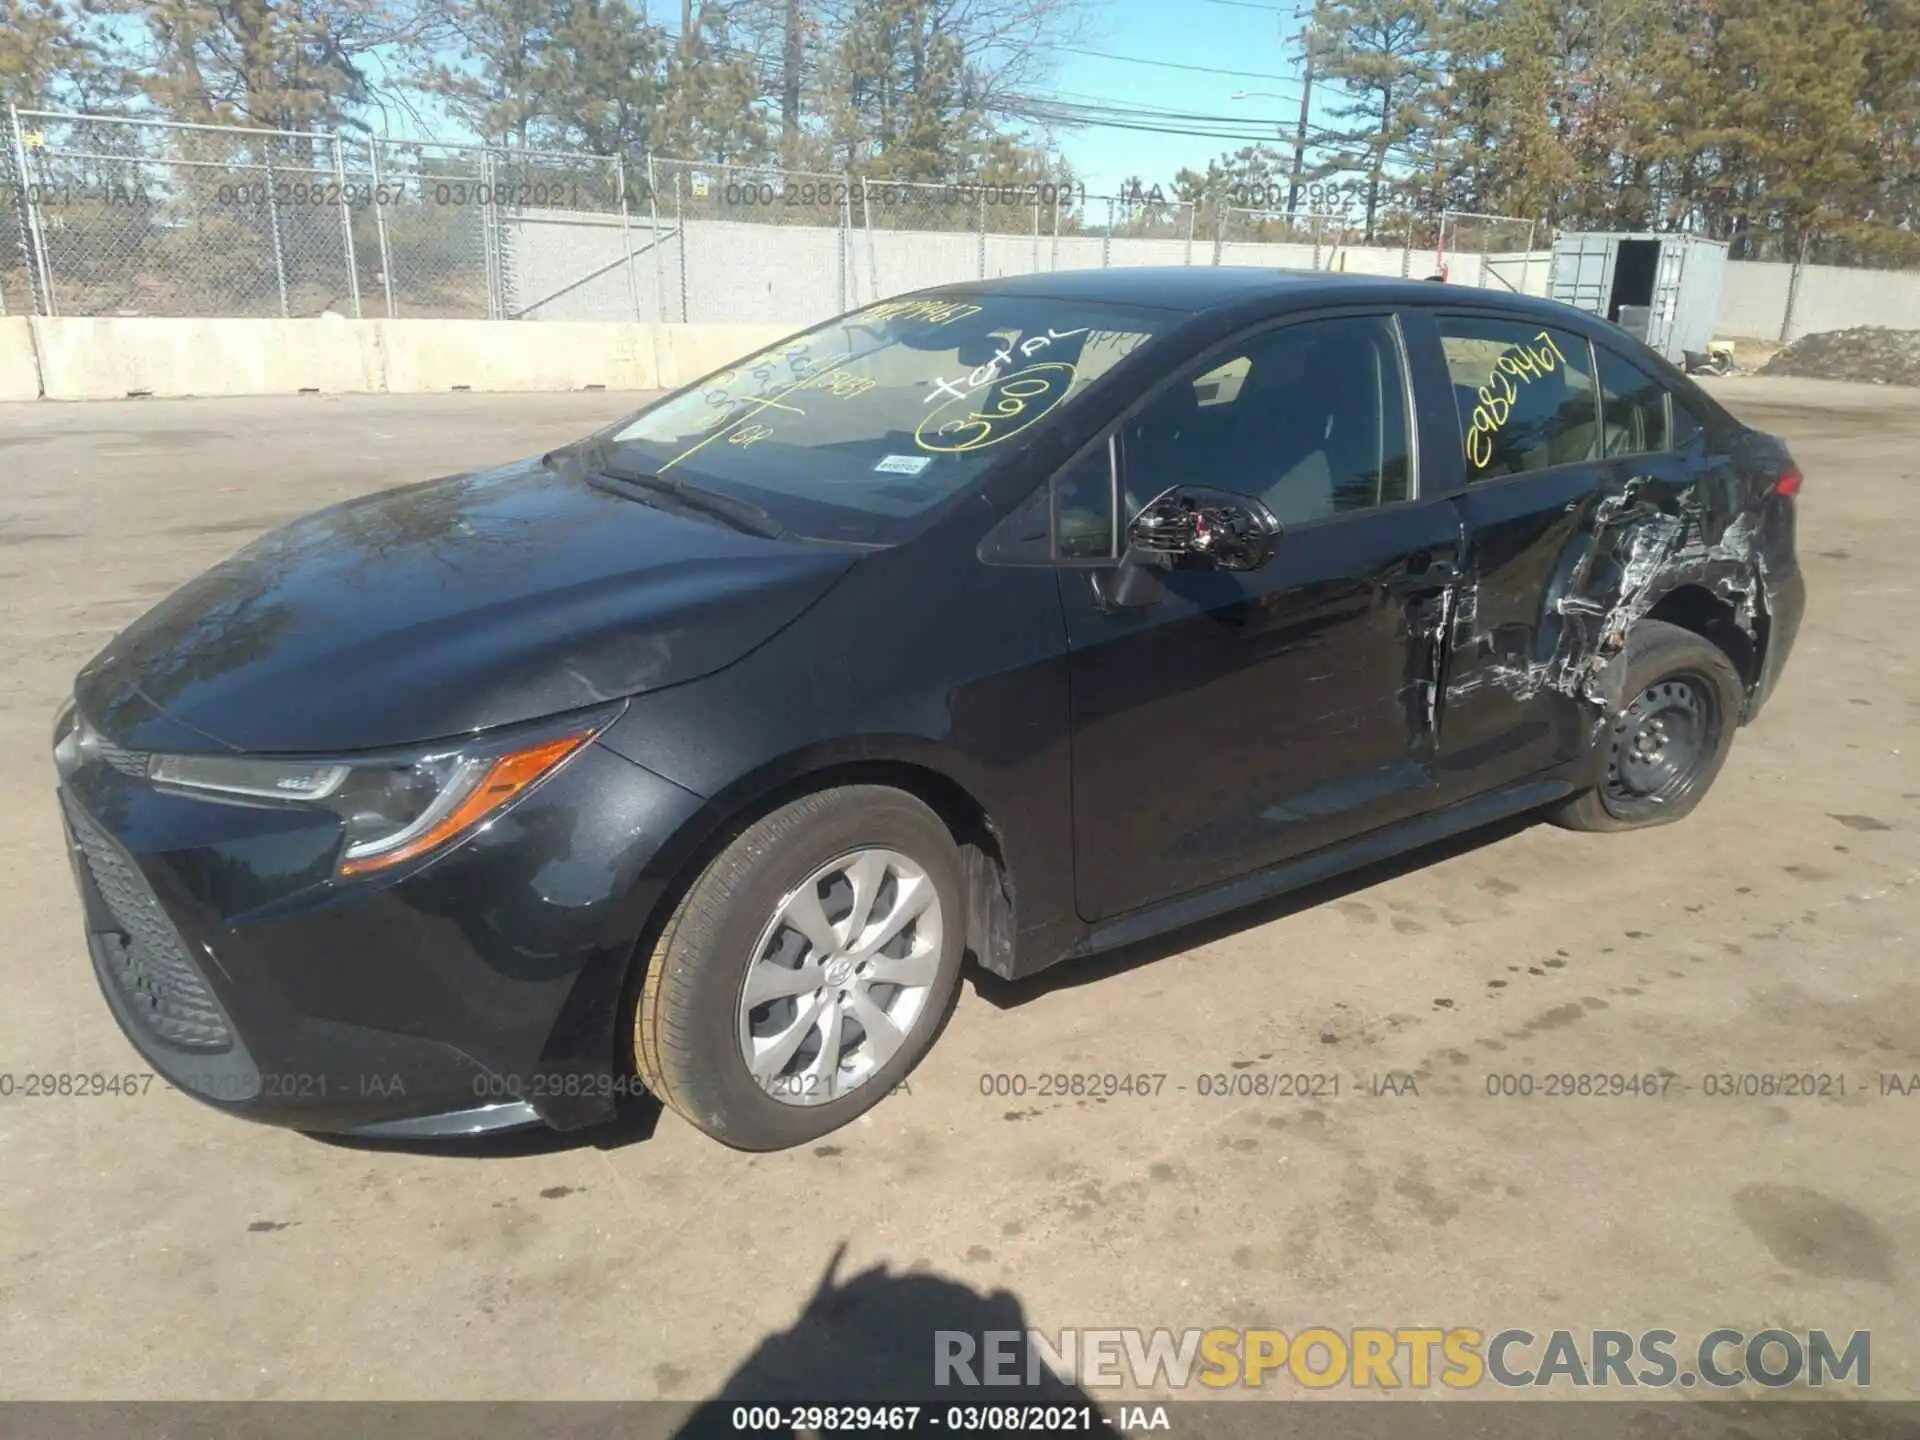
[[0, 319], [0, 399], [657, 390], [785, 324]]

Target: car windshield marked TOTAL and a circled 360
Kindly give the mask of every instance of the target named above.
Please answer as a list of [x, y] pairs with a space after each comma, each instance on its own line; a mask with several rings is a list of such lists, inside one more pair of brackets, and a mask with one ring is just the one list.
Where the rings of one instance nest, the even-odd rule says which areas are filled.
[[605, 468], [758, 507], [797, 536], [910, 538], [1167, 315], [972, 294], [889, 300], [641, 411]]

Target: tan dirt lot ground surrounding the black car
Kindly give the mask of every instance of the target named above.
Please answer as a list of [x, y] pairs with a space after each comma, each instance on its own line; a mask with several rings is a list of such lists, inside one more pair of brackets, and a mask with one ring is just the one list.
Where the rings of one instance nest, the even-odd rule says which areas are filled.
[[[1513, 826], [1043, 983], [977, 981], [910, 1094], [789, 1154], [645, 1114], [382, 1150], [161, 1085], [15, 1089], [0, 1396], [695, 1400], [793, 1325], [841, 1246], [843, 1279], [883, 1267], [897, 1294], [1044, 1331], [1870, 1329], [1874, 1396], [1920, 1396], [1920, 1092], [1880, 1079], [1920, 1071], [1920, 407], [1718, 394], [1807, 470], [1811, 612], [1688, 824]], [[46, 728], [75, 668], [265, 526], [630, 403], [0, 407], [0, 1075], [146, 1069], [94, 989], [60, 847]], [[1665, 1098], [1488, 1094], [1661, 1068]], [[1043, 1096], [1062, 1069], [1165, 1081]], [[1200, 1094], [1283, 1071], [1340, 1094]], [[1369, 1094], [1390, 1071], [1419, 1094]], [[1782, 1071], [1847, 1092], [1705, 1092]], [[801, 1363], [887, 1363], [876, 1331], [920, 1363], [920, 1302], [883, 1290], [816, 1315], [843, 1346]]]

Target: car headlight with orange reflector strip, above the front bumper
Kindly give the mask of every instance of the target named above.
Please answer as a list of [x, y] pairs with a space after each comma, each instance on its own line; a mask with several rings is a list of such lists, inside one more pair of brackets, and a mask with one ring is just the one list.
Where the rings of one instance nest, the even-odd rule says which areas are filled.
[[282, 760], [238, 755], [156, 755], [163, 787], [232, 803], [282, 801], [340, 816], [342, 876], [365, 876], [438, 851], [488, 824], [559, 770], [614, 714], [572, 716], [538, 732], [478, 737], [384, 756]]

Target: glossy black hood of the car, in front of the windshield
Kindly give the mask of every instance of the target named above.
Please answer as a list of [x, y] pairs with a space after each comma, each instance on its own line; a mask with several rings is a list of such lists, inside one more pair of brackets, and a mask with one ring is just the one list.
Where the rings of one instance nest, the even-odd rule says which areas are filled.
[[129, 749], [440, 739], [710, 674], [852, 564], [524, 461], [269, 532], [121, 632], [75, 697]]

